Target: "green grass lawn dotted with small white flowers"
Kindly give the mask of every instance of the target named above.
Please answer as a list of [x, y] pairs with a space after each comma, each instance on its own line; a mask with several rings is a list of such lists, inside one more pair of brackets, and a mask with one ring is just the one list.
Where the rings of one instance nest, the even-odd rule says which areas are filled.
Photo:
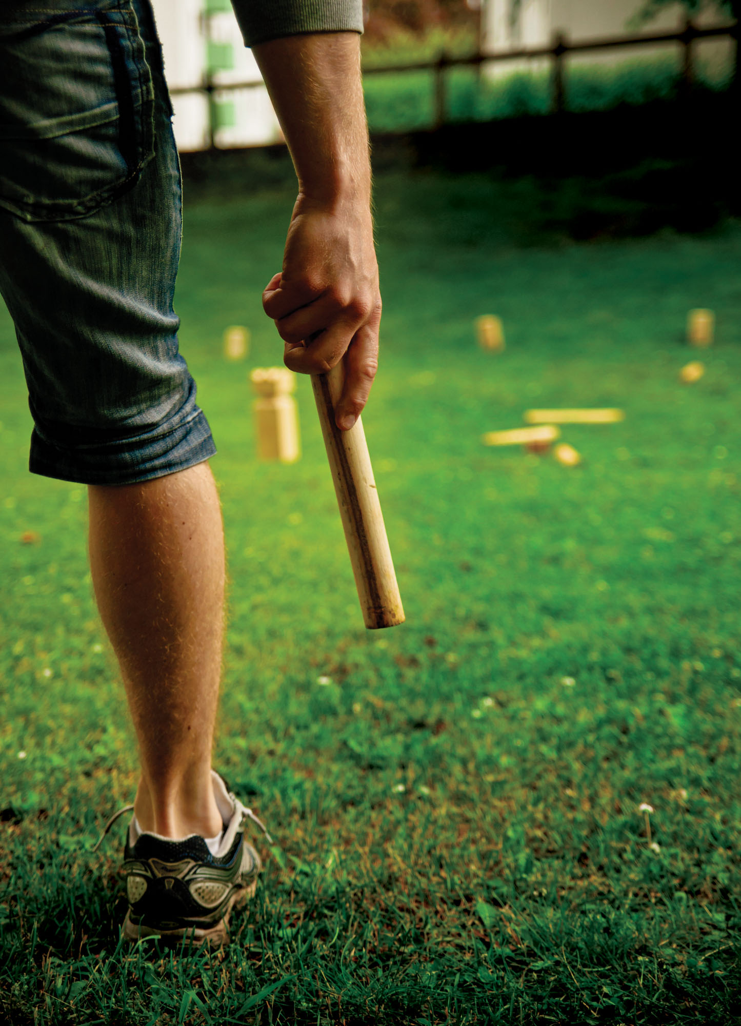
[[[119, 943], [122, 828], [89, 849], [132, 799], [132, 735], [85, 490], [27, 472], [0, 316], [0, 1020], [736, 1021], [741, 231], [524, 244], [481, 177], [381, 176], [364, 422], [407, 623], [366, 632], [308, 381], [301, 462], [254, 452], [290, 202], [193, 202], [178, 297], [230, 557], [217, 765], [276, 841], [224, 952]], [[684, 386], [695, 306], [717, 342]], [[574, 469], [480, 443], [532, 405], [626, 420], [566, 428]]]

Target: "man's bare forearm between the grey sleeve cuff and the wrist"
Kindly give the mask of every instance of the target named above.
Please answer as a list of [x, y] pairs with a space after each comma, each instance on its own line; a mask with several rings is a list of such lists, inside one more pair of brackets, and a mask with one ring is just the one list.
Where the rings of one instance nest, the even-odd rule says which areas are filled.
[[367, 126], [356, 32], [274, 39], [252, 48], [301, 192], [318, 202], [371, 201]]

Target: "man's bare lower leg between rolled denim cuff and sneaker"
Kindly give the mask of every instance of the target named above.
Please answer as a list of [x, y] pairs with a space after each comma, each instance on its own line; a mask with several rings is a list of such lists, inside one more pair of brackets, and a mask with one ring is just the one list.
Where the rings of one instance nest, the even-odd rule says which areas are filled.
[[153, 481], [90, 485], [90, 567], [142, 758], [142, 830], [222, 828], [211, 744], [224, 631], [224, 531], [207, 463]]

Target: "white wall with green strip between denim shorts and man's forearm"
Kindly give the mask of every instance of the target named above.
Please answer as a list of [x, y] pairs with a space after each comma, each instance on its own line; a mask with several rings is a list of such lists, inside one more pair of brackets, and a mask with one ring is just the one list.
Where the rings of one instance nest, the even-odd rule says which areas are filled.
[[[279, 142], [282, 134], [278, 119], [228, 0], [210, 0], [211, 13], [206, 13], [206, 0], [152, 0], [152, 6], [170, 90], [191, 89], [202, 84], [208, 64], [213, 67], [215, 56], [221, 58], [217, 63], [231, 65], [212, 70], [215, 85], [255, 83], [248, 89], [213, 92], [215, 145], [226, 149]], [[209, 145], [206, 94], [195, 88], [188, 92], [176, 91], [172, 108], [178, 148], [182, 152], [206, 149]]]

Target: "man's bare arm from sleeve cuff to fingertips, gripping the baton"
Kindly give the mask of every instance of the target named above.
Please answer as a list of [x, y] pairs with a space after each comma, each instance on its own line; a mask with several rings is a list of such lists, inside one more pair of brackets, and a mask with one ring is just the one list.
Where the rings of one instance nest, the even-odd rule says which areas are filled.
[[283, 270], [268, 283], [263, 307], [291, 370], [324, 373], [345, 357], [336, 420], [348, 430], [376, 374], [381, 320], [359, 40], [355, 33], [289, 36], [254, 51], [300, 187]]

